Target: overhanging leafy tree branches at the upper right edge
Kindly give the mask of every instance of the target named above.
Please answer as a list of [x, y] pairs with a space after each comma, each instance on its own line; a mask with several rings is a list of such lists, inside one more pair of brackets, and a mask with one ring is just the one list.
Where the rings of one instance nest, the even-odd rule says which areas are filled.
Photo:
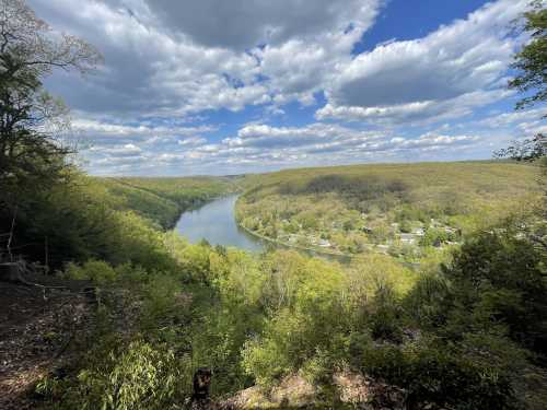
[[524, 31], [532, 40], [515, 56], [513, 68], [520, 74], [509, 82], [509, 87], [521, 93], [534, 92], [516, 104], [525, 108], [547, 99], [547, 9], [543, 1], [534, 1], [533, 9], [524, 14]]

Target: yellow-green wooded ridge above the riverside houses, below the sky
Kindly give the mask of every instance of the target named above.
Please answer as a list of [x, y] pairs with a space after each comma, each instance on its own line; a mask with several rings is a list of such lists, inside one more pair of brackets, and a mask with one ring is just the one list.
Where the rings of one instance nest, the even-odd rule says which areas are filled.
[[[245, 198], [337, 194], [347, 208], [366, 212], [407, 204], [435, 215], [469, 214], [537, 191], [532, 164], [461, 162], [386, 164], [283, 171], [253, 176]], [[288, 198], [288, 200], [292, 200]]]

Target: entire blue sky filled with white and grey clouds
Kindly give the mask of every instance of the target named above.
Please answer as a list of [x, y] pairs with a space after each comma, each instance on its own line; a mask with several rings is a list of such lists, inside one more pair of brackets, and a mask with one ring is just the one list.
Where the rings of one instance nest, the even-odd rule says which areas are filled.
[[240, 174], [491, 157], [529, 0], [28, 0], [104, 55], [47, 87], [96, 175]]

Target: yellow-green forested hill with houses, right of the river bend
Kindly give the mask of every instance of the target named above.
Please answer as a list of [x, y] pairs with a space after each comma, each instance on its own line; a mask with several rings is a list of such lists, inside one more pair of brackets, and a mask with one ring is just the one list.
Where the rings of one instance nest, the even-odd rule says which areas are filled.
[[420, 261], [539, 195], [533, 164], [462, 162], [282, 171], [247, 178], [240, 224], [316, 251]]

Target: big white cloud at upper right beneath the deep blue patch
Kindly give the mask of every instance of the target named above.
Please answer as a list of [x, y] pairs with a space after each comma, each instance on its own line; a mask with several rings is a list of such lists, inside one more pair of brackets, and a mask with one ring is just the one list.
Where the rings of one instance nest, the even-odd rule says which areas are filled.
[[339, 67], [317, 118], [401, 121], [505, 96], [502, 81], [517, 39], [511, 22], [527, 0], [500, 0], [415, 40], [389, 42]]

